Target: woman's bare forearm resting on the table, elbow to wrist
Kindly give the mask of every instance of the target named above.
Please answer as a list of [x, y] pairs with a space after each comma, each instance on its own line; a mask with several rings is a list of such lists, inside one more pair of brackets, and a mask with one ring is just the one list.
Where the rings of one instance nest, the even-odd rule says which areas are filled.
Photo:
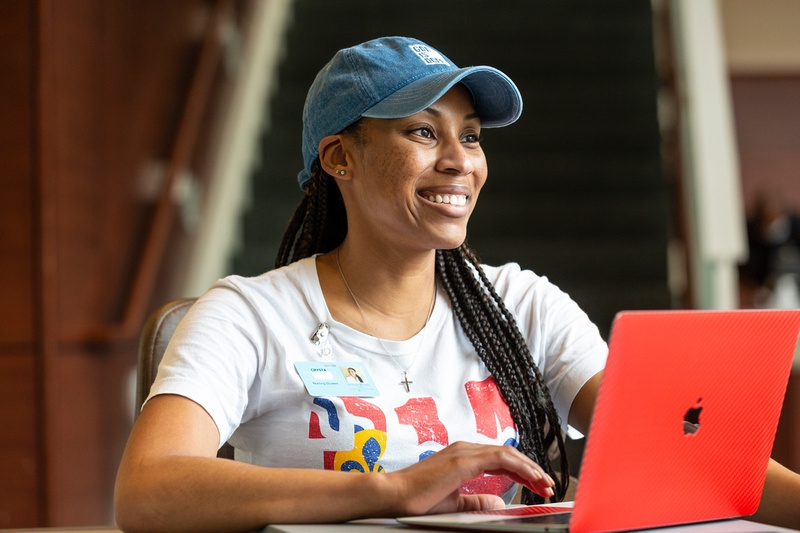
[[382, 474], [275, 469], [226, 459], [171, 456], [123, 464], [117, 524], [123, 531], [251, 531], [270, 523], [340, 522], [400, 513]]

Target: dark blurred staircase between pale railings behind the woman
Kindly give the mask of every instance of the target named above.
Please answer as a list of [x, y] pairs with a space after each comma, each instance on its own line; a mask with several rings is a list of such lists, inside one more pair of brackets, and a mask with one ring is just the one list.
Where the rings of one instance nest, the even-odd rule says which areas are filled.
[[641, 0], [295, 0], [238, 274], [272, 267], [301, 197], [301, 112], [336, 50], [417, 37], [519, 86], [522, 118], [484, 130], [489, 180], [468, 240], [483, 262], [547, 275], [607, 336], [622, 309], [670, 306], [650, 3]]

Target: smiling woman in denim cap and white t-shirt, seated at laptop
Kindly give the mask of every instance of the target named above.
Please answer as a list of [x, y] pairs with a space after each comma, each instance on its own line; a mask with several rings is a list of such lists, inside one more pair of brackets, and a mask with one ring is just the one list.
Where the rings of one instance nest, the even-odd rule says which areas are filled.
[[[481, 131], [521, 112], [505, 74], [416, 39], [334, 56], [306, 100], [305, 195], [277, 268], [220, 280], [176, 331], [120, 465], [123, 529], [564, 496], [562, 432], [588, 428], [606, 345], [546, 278], [465, 243]], [[215, 457], [226, 441], [236, 461]]]

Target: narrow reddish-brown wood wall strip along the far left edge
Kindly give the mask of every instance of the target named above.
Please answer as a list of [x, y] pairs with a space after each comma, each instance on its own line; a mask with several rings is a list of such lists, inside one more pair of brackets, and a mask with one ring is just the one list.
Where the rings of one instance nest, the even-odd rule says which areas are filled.
[[0, 17], [0, 528], [44, 516], [34, 351], [35, 10]]

